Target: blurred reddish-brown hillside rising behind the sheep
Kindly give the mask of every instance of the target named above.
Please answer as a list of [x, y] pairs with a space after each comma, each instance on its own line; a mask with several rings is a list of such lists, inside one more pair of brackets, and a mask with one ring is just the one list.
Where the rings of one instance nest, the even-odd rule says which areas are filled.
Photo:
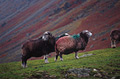
[[110, 32], [120, 29], [120, 0], [2, 0], [0, 8], [0, 63], [19, 61], [21, 45], [47, 30], [58, 36], [87, 29], [90, 51], [110, 48]]

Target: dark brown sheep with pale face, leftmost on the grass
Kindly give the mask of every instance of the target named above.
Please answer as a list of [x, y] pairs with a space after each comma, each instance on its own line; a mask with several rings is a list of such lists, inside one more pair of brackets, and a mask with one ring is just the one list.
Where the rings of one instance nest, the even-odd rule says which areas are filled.
[[47, 55], [55, 51], [55, 37], [47, 31], [41, 38], [29, 40], [22, 46], [22, 66], [27, 67], [27, 59], [41, 57], [44, 55], [45, 63], [48, 62]]

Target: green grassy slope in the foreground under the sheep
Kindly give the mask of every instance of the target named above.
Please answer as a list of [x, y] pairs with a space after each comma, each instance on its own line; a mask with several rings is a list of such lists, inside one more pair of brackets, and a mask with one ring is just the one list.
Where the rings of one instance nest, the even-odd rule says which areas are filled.
[[75, 59], [74, 54], [64, 55], [64, 60], [57, 62], [49, 58], [49, 64], [42, 59], [31, 60], [25, 69], [21, 67], [21, 62], [0, 64], [0, 79], [75, 79], [79, 77], [74, 73], [69, 74], [68, 70], [76, 68], [91, 69], [90, 75], [82, 79], [120, 76], [120, 47], [79, 53], [79, 57]]

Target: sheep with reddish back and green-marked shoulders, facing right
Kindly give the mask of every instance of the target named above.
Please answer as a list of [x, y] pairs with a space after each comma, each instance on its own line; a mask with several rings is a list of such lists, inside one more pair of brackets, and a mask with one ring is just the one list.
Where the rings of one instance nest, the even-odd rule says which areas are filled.
[[88, 40], [91, 36], [91, 32], [89, 32], [88, 30], [84, 30], [77, 35], [69, 35], [59, 38], [56, 41], [55, 45], [55, 61], [57, 61], [58, 56], [60, 56], [60, 60], [62, 61], [62, 54], [70, 54], [72, 52], [75, 52], [75, 58], [78, 59], [79, 57], [77, 55], [77, 52], [86, 48]]

